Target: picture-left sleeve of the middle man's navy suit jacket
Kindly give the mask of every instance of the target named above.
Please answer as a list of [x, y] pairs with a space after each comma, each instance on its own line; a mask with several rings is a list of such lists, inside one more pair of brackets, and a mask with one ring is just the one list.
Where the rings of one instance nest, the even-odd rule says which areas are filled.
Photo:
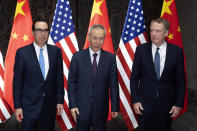
[[70, 109], [77, 107], [77, 72], [77, 56], [75, 53], [72, 57], [68, 73], [68, 100]]

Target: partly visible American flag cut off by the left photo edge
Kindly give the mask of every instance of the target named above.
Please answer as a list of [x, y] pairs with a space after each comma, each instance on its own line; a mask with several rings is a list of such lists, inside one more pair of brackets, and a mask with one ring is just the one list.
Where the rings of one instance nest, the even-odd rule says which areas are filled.
[[3, 56], [0, 51], [0, 123], [9, 119], [11, 117], [11, 109], [6, 103], [3, 92], [4, 92], [4, 64], [3, 64]]

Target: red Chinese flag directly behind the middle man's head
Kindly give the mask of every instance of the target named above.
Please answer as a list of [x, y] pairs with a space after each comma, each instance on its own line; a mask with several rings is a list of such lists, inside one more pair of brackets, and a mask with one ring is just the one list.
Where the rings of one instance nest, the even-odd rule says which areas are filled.
[[[94, 0], [92, 14], [91, 14], [91, 18], [90, 18], [90, 24], [88, 27], [88, 32], [89, 32], [90, 27], [94, 24], [101, 24], [105, 27], [106, 36], [105, 36], [105, 40], [104, 40], [104, 44], [102, 46], [102, 49], [114, 54], [114, 48], [113, 48], [113, 43], [112, 43], [112, 38], [111, 38], [111, 29], [109, 26], [106, 0]], [[88, 41], [88, 35], [87, 35], [84, 49], [86, 49], [88, 47], [89, 47], [89, 41]], [[108, 120], [111, 120], [111, 118], [112, 118], [111, 117], [111, 102], [109, 100]]]

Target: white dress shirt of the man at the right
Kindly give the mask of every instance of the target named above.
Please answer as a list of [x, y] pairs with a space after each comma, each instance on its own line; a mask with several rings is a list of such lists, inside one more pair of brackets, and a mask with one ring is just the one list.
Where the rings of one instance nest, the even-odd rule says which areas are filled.
[[165, 65], [166, 47], [167, 47], [167, 43], [166, 42], [164, 42], [159, 47], [157, 47], [154, 43], [152, 43], [153, 62], [154, 62], [154, 59], [155, 59], [155, 52], [157, 51], [157, 48], [159, 48], [158, 52], [159, 52], [159, 55], [160, 55], [160, 76], [161, 76], [161, 74], [163, 72], [164, 65]]

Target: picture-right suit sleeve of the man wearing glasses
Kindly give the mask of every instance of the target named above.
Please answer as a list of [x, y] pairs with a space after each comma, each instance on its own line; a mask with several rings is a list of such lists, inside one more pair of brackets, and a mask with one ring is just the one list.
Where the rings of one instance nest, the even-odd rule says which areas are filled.
[[63, 59], [61, 49], [57, 53], [57, 103], [64, 103]]

